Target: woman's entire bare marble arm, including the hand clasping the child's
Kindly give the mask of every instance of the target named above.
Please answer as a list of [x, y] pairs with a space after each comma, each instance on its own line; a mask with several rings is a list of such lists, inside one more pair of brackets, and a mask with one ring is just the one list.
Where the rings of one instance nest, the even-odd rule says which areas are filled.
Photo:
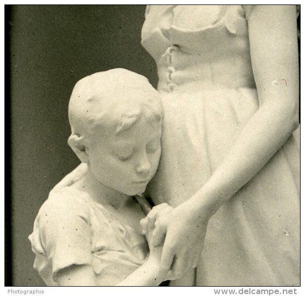
[[298, 127], [295, 5], [255, 6], [248, 17], [248, 30], [259, 108], [208, 182], [156, 221], [153, 243], [158, 244], [166, 234], [162, 254], [166, 270], [172, 262], [178, 273], [189, 264], [196, 265], [210, 217], [264, 167]]

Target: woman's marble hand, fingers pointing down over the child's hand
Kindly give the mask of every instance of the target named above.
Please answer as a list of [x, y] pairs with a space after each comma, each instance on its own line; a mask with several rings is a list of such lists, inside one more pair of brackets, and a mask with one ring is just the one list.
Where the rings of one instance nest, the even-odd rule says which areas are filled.
[[150, 244], [162, 245], [161, 272], [180, 278], [196, 267], [203, 248], [210, 212], [196, 215], [196, 208], [184, 202], [158, 217], [150, 232]]

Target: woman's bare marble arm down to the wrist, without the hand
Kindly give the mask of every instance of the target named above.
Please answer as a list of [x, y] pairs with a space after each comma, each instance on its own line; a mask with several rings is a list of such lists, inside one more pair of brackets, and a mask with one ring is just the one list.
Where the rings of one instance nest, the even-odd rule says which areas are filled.
[[212, 213], [263, 168], [299, 125], [295, 5], [257, 5], [248, 28], [259, 108], [223, 163], [193, 197], [202, 201], [199, 205], [209, 205]]

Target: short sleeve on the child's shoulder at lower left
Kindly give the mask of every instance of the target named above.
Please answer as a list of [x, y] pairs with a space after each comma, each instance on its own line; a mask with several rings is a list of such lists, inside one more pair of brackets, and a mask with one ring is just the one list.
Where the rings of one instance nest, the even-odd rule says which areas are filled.
[[68, 266], [91, 264], [90, 221], [86, 203], [57, 192], [39, 210], [34, 224], [32, 248], [43, 250], [52, 278]]

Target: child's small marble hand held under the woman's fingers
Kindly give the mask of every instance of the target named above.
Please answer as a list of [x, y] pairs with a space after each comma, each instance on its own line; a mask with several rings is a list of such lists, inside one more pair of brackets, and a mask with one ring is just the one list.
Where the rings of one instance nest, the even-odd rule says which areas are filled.
[[[154, 227], [154, 223], [156, 220], [173, 210], [173, 207], [169, 206], [167, 203], [162, 203], [157, 206], [154, 206], [152, 210], [148, 213], [148, 215], [140, 221], [142, 226], [142, 233], [147, 236], [148, 242], [150, 244], [151, 240], [151, 232], [152, 228]], [[150, 235], [148, 235], [150, 234]]]

